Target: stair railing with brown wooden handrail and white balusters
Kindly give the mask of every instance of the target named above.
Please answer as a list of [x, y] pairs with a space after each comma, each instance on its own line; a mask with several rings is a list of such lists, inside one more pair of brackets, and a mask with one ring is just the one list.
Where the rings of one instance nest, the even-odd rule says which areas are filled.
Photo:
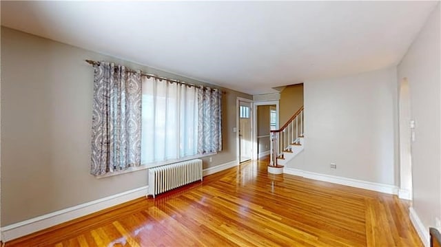
[[277, 167], [277, 160], [284, 158], [283, 151], [291, 151], [291, 144], [300, 144], [304, 132], [305, 116], [303, 107], [300, 107], [283, 127], [270, 131], [269, 165]]

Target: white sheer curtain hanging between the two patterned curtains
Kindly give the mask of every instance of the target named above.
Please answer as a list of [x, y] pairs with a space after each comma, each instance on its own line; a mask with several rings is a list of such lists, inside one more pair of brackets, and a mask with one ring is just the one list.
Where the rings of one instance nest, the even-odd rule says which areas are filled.
[[198, 94], [196, 87], [142, 77], [141, 163], [196, 155]]

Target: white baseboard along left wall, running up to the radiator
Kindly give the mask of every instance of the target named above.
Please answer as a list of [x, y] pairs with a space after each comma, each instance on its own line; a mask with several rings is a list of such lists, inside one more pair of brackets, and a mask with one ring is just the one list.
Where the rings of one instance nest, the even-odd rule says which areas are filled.
[[84, 204], [62, 209], [60, 211], [48, 213], [47, 215], [27, 219], [23, 222], [17, 222], [15, 224], [10, 224], [9, 226], [4, 226], [1, 228], [2, 240], [10, 241], [30, 233], [35, 233], [39, 230], [61, 224], [63, 222], [68, 222], [78, 217], [101, 211], [105, 208], [110, 208], [111, 206], [116, 206], [118, 204], [143, 197], [147, 195], [147, 189], [148, 186], [143, 186], [130, 191], [124, 191], [123, 193], [118, 193], [116, 195], [110, 195], [99, 200], [94, 200], [92, 202], [86, 202]]

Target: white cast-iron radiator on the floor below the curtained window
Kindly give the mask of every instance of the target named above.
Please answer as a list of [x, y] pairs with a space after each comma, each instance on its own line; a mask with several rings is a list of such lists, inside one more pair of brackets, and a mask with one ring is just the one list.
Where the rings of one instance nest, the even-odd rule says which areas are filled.
[[156, 195], [176, 189], [179, 186], [202, 181], [202, 160], [187, 160], [174, 164], [149, 169], [149, 192], [147, 196]]

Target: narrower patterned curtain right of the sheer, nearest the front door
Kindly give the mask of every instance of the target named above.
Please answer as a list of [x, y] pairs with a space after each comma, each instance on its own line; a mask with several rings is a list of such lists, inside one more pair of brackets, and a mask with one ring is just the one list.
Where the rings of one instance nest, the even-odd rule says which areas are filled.
[[198, 87], [198, 154], [222, 151], [222, 92]]

